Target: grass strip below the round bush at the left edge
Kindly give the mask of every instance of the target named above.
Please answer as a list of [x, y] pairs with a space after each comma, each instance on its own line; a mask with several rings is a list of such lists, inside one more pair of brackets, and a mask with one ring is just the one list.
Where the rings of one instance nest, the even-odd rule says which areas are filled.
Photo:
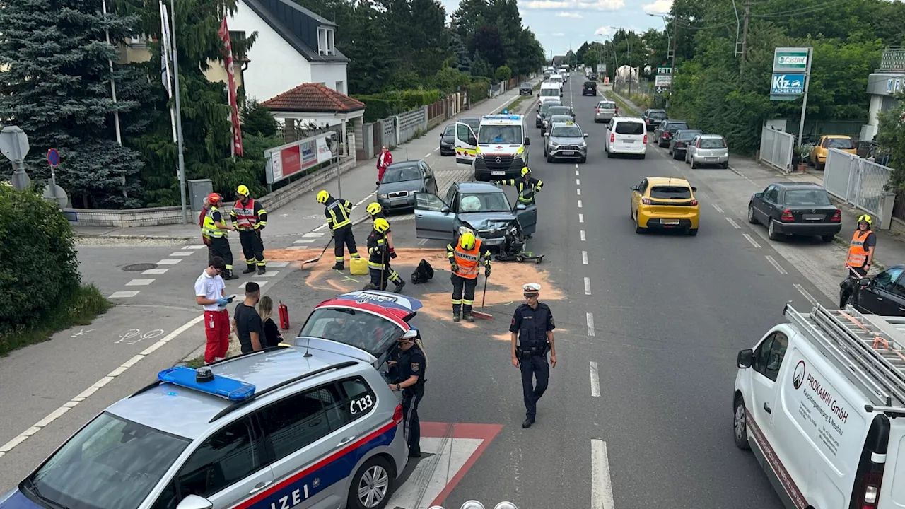
[[63, 293], [52, 308], [39, 312], [32, 323], [0, 333], [0, 355], [51, 339], [54, 332], [76, 325], [88, 325], [107, 312], [110, 303], [97, 286], [85, 284]]

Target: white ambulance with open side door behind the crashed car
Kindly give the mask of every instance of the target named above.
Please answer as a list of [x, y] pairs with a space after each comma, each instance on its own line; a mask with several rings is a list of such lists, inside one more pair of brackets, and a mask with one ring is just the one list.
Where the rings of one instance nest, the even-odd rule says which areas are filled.
[[475, 180], [518, 178], [521, 168], [528, 166], [525, 147], [530, 140], [525, 136], [524, 120], [505, 110], [484, 115], [477, 133], [468, 124], [456, 122], [456, 162], [471, 164]]

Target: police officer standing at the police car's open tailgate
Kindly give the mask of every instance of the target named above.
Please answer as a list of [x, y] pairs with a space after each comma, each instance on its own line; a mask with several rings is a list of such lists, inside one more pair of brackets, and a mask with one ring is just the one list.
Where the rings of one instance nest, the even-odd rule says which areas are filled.
[[395, 379], [399, 380], [389, 384], [389, 387], [392, 390], [403, 391], [402, 412], [405, 418], [403, 430], [408, 443], [408, 457], [421, 457], [421, 420], [418, 418], [418, 403], [424, 397], [427, 356], [424, 354], [421, 341], [415, 341], [414, 336], [406, 336], [399, 338], [397, 360], [388, 362], [391, 372], [395, 372]]

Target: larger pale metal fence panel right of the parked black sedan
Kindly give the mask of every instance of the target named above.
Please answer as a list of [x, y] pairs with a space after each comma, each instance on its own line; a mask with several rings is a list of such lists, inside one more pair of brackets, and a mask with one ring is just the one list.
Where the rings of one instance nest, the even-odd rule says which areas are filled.
[[829, 149], [824, 168], [824, 187], [845, 203], [880, 216], [883, 187], [892, 168], [859, 158], [840, 149]]

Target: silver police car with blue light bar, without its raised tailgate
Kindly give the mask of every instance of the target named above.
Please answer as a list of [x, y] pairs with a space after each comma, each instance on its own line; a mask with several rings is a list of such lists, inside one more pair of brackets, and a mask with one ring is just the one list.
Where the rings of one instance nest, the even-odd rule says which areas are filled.
[[309, 338], [163, 370], [0, 509], [381, 509], [408, 451], [402, 407], [370, 359]]

